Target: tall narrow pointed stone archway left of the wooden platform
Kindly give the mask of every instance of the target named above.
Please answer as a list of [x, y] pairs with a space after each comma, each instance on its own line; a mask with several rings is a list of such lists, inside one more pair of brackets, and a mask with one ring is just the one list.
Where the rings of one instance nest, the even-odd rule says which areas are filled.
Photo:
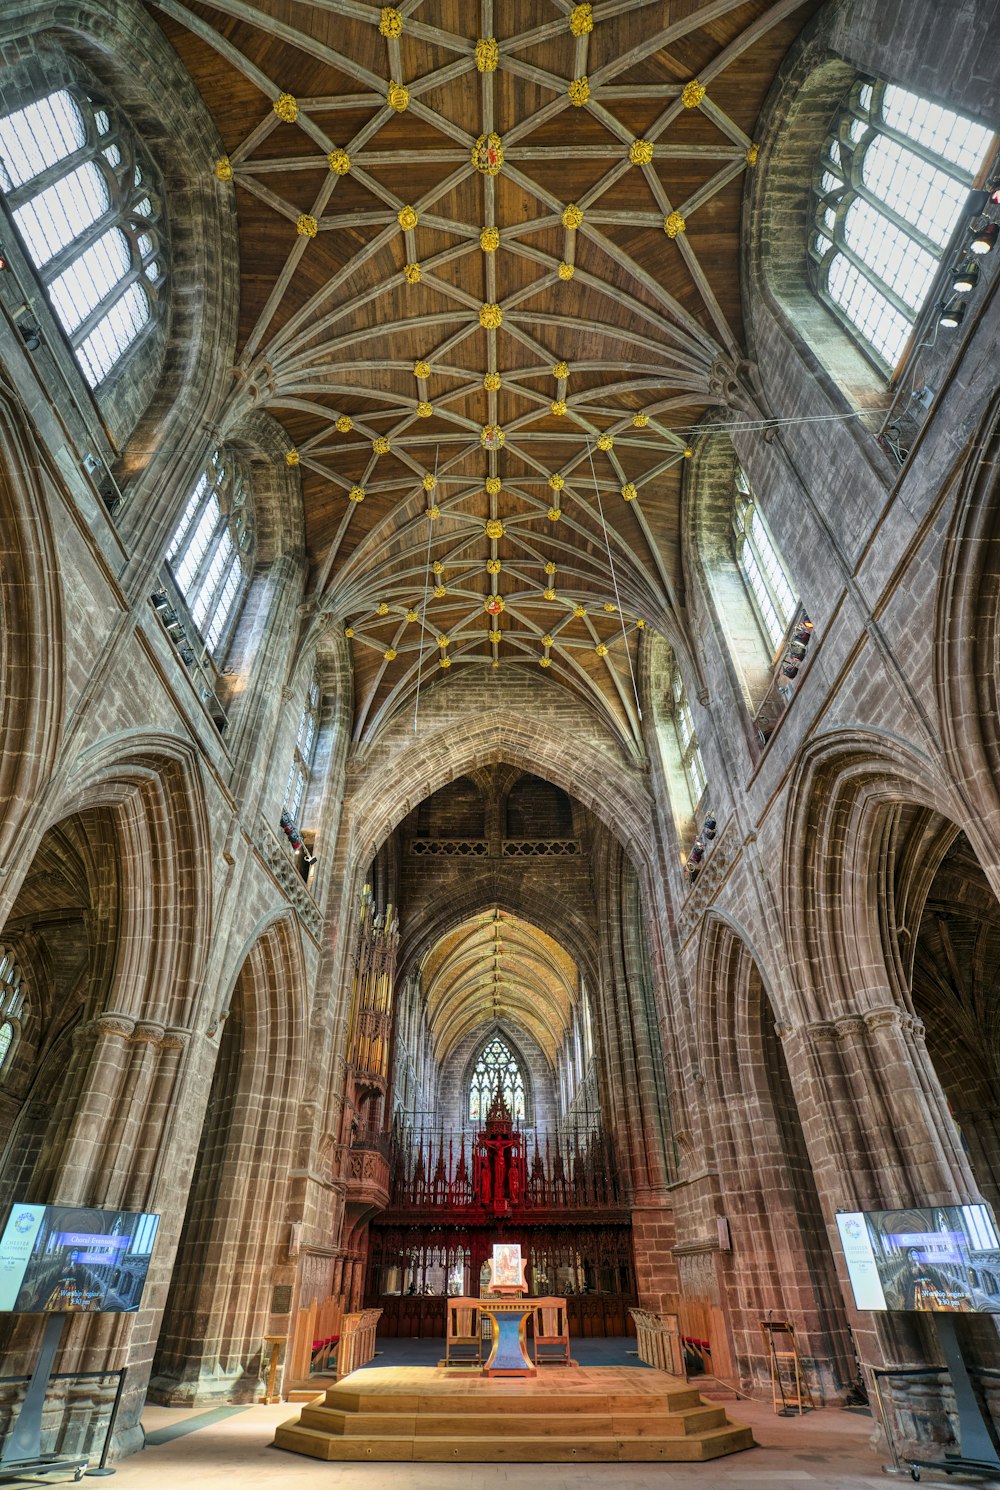
[[215, 1073], [154, 1363], [155, 1401], [253, 1401], [262, 1337], [288, 1332], [304, 989], [298, 927], [280, 913], [258, 927], [212, 1036]]

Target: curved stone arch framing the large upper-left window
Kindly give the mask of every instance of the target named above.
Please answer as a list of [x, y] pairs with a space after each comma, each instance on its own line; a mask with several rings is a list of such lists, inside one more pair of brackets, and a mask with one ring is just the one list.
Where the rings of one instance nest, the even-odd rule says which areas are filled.
[[[235, 294], [221, 273], [237, 256], [231, 188], [215, 180], [224, 153], [206, 106], [176, 52], [142, 12], [113, 0], [83, 0], [72, 12], [42, 12], [16, 0], [3, 13], [3, 37], [76, 58], [121, 104], [154, 158], [167, 195], [170, 224], [170, 326], [165, 347], [149, 367], [133, 364], [118, 378], [103, 411], [121, 447], [131, 437], [118, 478], [133, 481], [148, 468], [148, 451], [182, 447], [200, 417], [210, 417], [235, 346]], [[219, 286], [206, 295], [204, 286]], [[156, 462], [154, 462], [156, 463]], [[168, 489], [162, 472], [149, 492]], [[146, 504], [130, 504], [130, 529]]]

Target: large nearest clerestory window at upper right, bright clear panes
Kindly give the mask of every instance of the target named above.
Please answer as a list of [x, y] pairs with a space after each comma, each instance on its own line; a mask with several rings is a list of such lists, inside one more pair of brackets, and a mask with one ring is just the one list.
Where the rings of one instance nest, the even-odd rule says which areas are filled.
[[811, 273], [823, 304], [885, 374], [903, 356], [994, 140], [881, 80], [855, 82], [833, 121], [814, 179]]

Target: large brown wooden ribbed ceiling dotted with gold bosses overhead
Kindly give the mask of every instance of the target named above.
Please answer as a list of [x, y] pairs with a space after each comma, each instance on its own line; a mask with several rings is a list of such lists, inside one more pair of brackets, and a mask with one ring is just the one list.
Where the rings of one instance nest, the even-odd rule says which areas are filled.
[[815, 0], [149, 0], [224, 140], [231, 414], [270, 410], [355, 735], [459, 669], [638, 738], [693, 426], [742, 356], [739, 210]]

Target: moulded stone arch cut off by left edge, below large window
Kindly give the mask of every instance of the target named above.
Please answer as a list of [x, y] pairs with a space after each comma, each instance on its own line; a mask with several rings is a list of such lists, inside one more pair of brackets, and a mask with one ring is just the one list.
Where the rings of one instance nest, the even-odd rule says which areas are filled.
[[63, 714], [63, 597], [46, 507], [52, 469], [0, 378], [0, 863], [36, 811]]

